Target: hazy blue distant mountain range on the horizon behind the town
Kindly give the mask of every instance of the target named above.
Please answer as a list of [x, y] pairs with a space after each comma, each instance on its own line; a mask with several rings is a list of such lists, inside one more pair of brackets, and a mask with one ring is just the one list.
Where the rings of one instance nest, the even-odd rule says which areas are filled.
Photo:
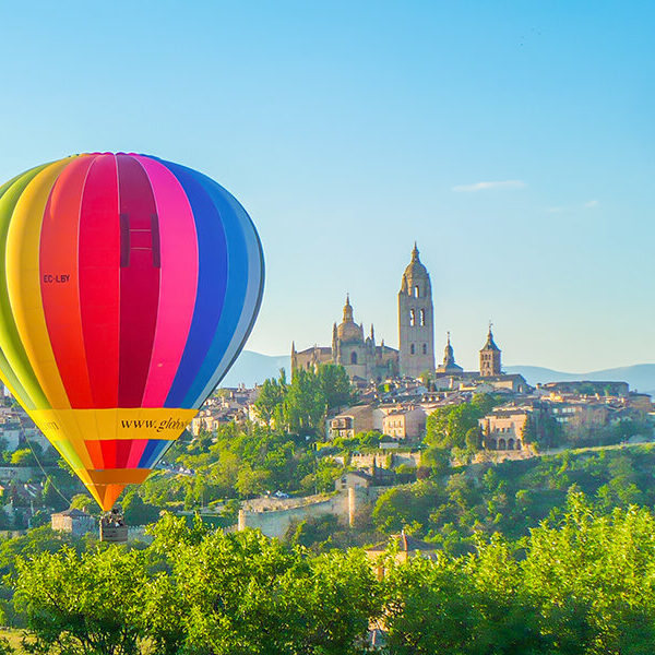
[[[291, 368], [288, 355], [270, 356], [252, 350], [243, 350], [221, 383], [222, 386], [246, 386], [261, 384], [266, 378], [277, 378], [284, 368], [287, 376]], [[587, 373], [564, 373], [538, 366], [508, 366], [508, 373], [521, 373], [529, 384], [544, 382], [565, 382], [567, 380], [606, 380], [608, 382], [628, 382], [631, 390], [655, 394], [655, 364], [638, 364]]]

